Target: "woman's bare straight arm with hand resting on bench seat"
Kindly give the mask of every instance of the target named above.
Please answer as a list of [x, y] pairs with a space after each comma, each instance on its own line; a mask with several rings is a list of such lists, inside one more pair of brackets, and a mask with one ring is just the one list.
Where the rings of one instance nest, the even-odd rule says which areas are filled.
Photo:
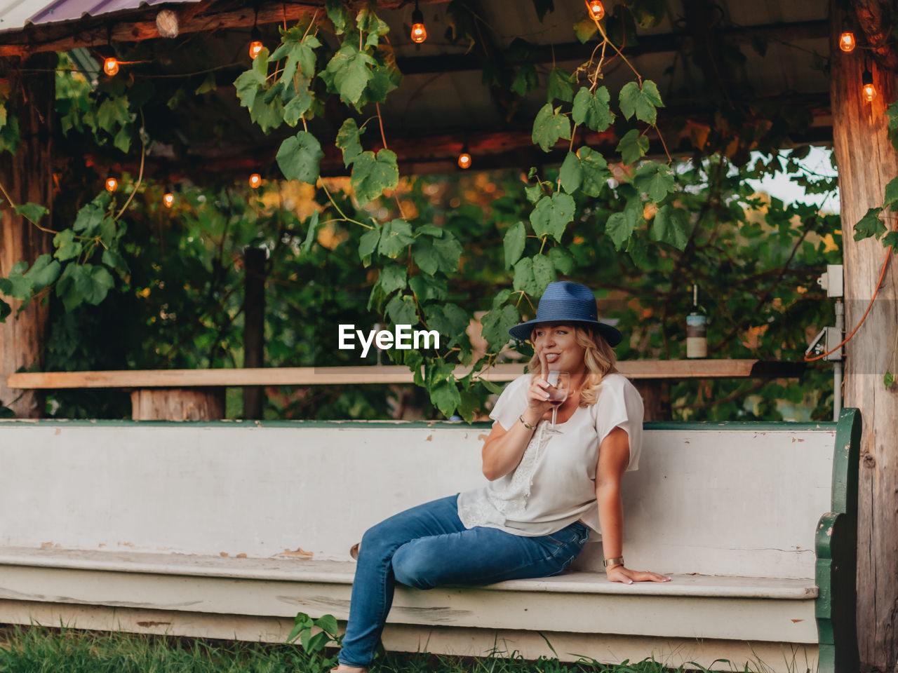
[[[602, 551], [605, 558], [623, 555], [621, 477], [628, 465], [629, 435], [623, 428], [614, 428], [599, 447], [599, 462], [595, 468], [595, 500], [599, 508], [599, 527], [602, 529]], [[622, 564], [609, 565], [605, 572], [609, 580], [625, 584], [670, 580], [657, 572], [629, 570]]]

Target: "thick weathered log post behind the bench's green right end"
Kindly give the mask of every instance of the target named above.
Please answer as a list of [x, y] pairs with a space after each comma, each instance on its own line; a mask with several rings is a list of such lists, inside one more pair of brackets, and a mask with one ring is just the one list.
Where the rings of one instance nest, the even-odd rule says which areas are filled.
[[[858, 2], [860, 15], [869, 5], [885, 15], [891, 4]], [[845, 327], [853, 329], [873, 295], [885, 249], [873, 239], [855, 241], [854, 225], [867, 209], [883, 205], [885, 185], [898, 176], [898, 154], [887, 137], [885, 108], [895, 100], [892, 72], [877, 65], [858, 31], [858, 48], [850, 54], [837, 46], [843, 15], [831, 3], [832, 134], [839, 165], [841, 221], [845, 264]], [[866, 29], [865, 29], [866, 30]], [[869, 69], [876, 98], [861, 96]], [[894, 214], [886, 218], [894, 229]], [[845, 406], [858, 406], [864, 419], [858, 488], [858, 649], [860, 670], [895, 670], [898, 660], [898, 390], [886, 389], [898, 310], [898, 270], [894, 255], [864, 325], [846, 345]]]

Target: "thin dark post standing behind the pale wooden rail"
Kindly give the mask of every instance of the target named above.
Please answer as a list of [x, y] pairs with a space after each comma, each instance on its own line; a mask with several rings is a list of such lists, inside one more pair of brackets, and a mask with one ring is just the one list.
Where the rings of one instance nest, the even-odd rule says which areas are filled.
[[[246, 279], [243, 283], [243, 366], [261, 367], [265, 358], [265, 250], [243, 251]], [[243, 388], [243, 418], [261, 418], [265, 389]]]

